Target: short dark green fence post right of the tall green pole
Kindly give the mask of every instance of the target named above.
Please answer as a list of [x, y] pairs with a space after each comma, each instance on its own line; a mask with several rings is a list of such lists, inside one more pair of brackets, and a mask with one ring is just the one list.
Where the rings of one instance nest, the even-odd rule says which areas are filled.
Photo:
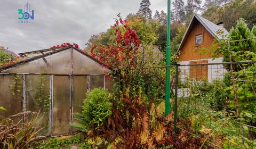
[[179, 75], [179, 64], [175, 64], [175, 97], [174, 97], [174, 117], [173, 117], [173, 129], [177, 131], [177, 109], [178, 109], [178, 75]]

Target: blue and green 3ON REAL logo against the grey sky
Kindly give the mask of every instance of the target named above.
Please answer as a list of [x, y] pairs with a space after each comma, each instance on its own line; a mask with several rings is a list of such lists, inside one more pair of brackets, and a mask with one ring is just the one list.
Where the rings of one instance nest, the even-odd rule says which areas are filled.
[[24, 9], [18, 9], [19, 23], [34, 23], [34, 10], [30, 10], [30, 4], [27, 3]]

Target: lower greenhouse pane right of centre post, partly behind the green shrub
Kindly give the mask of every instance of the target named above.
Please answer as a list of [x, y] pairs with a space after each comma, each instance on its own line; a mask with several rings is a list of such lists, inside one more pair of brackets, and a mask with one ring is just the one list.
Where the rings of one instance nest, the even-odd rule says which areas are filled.
[[[73, 113], [82, 112], [83, 101], [87, 94], [87, 76], [73, 77]], [[77, 122], [73, 117], [73, 121]], [[72, 128], [73, 133], [77, 131]]]

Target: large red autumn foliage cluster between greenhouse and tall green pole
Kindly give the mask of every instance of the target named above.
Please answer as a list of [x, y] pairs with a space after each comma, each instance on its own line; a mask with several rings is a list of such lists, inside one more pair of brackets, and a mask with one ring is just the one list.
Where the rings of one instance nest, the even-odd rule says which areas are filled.
[[140, 46], [137, 31], [128, 26], [127, 20], [116, 20], [112, 27], [115, 30], [116, 40], [113, 45], [93, 46], [91, 56], [112, 68], [131, 68], [135, 66], [135, 56]]

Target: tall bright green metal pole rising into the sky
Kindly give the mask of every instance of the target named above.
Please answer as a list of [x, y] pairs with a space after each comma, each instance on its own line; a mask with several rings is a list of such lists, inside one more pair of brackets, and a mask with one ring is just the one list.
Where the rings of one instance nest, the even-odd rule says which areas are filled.
[[167, 44], [166, 44], [166, 72], [165, 72], [165, 117], [170, 113], [170, 64], [171, 64], [171, 0], [167, 0]]

